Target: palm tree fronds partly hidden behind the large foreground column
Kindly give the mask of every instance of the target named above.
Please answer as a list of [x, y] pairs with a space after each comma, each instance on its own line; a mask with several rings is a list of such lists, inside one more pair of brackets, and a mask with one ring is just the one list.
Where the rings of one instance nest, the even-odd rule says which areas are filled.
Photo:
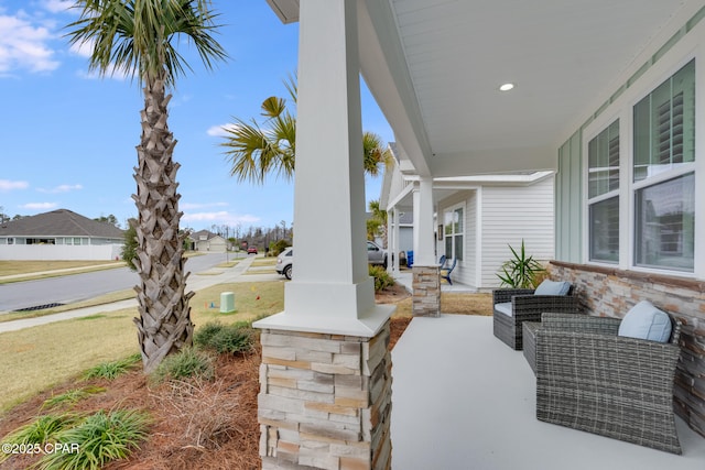
[[[292, 101], [296, 102], [295, 78], [284, 81]], [[263, 125], [254, 119], [247, 122], [235, 118], [235, 123], [224, 127], [226, 141], [221, 143], [225, 154], [232, 162], [230, 176], [240, 182], [262, 184], [269, 173], [285, 179], [294, 175], [296, 153], [296, 118], [286, 109], [284, 98], [269, 97], [262, 101]], [[365, 172], [379, 174], [380, 164], [391, 162], [391, 153], [382, 147], [382, 140], [372, 132], [362, 133]]]

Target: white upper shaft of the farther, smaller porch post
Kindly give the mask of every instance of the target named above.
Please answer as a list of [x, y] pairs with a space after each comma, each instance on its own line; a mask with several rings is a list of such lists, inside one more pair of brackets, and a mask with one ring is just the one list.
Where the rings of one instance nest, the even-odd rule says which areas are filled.
[[434, 266], [435, 238], [433, 222], [433, 178], [421, 177], [413, 193], [414, 201], [414, 265]]

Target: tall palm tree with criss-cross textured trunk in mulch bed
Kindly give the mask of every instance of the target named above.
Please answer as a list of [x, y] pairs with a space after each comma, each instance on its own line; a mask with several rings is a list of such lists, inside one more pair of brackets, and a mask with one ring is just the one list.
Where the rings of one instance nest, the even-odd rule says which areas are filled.
[[176, 141], [166, 123], [175, 79], [188, 67], [174, 45], [186, 36], [206, 68], [227, 57], [212, 33], [216, 14], [208, 0], [78, 0], [78, 21], [67, 28], [72, 44], [91, 47], [89, 69], [100, 76], [123, 73], [143, 85], [142, 134], [134, 168], [138, 208], [135, 286], [140, 318], [134, 318], [147, 373], [164, 357], [193, 342], [180, 234]]

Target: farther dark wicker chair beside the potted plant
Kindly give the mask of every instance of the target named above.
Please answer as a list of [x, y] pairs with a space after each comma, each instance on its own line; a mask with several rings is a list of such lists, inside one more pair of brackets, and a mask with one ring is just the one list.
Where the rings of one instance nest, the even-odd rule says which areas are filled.
[[[511, 315], [498, 309], [498, 305], [511, 303]], [[541, 321], [544, 311], [578, 314], [581, 305], [573, 295], [573, 286], [567, 295], [534, 295], [530, 288], [498, 288], [492, 291], [492, 325], [497, 338], [514, 350], [521, 350], [524, 321]]]

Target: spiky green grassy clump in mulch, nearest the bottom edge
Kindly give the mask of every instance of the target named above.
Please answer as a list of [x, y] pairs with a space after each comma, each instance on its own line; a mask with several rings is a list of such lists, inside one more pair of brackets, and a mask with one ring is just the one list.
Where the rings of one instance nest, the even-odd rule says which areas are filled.
[[[128, 457], [148, 437], [150, 417], [134, 409], [99, 411], [83, 423], [59, 433], [57, 444], [65, 451], [46, 453], [37, 468], [100, 469]], [[55, 447], [56, 448], [56, 447]]]

